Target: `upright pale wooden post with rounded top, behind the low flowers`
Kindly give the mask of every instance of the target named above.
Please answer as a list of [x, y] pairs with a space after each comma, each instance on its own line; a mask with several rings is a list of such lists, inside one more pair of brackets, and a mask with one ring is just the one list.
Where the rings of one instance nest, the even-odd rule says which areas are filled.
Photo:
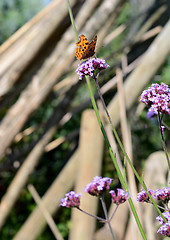
[[[100, 176], [103, 159], [104, 139], [97, 124], [94, 110], [86, 110], [82, 114], [80, 127], [79, 153], [75, 191], [82, 193], [81, 209], [96, 215], [97, 198], [83, 193], [83, 189], [93, 177]], [[92, 239], [95, 232], [96, 219], [72, 209], [72, 228], [70, 240]], [[86, 231], [84, 231], [86, 229]]]

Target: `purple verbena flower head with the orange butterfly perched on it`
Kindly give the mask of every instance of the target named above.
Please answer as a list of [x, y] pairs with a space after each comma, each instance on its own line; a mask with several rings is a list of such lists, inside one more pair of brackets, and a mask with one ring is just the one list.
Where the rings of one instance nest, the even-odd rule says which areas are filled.
[[79, 80], [82, 80], [85, 75], [89, 75], [90, 77], [93, 77], [95, 69], [98, 69], [99, 71], [101, 71], [108, 67], [109, 65], [106, 63], [104, 59], [88, 58], [86, 61], [78, 65], [76, 72], [79, 75]]

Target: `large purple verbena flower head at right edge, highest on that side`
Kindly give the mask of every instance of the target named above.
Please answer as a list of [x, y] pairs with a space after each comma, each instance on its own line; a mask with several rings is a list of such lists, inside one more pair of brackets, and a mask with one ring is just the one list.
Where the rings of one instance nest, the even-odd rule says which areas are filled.
[[159, 113], [170, 114], [170, 88], [165, 83], [154, 83], [141, 95], [141, 102], [149, 106], [148, 117]]

